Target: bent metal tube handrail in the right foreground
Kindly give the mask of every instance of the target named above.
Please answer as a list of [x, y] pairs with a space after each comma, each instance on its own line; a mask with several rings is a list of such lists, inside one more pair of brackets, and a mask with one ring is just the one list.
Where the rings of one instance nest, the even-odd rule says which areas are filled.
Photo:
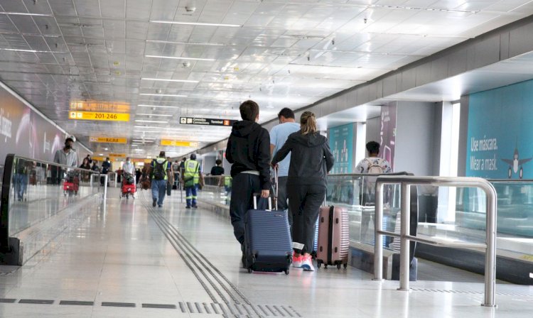
[[[384, 185], [399, 184], [401, 186], [401, 233], [400, 237], [400, 287], [399, 290], [409, 290], [409, 241], [432, 243], [424, 238], [409, 235], [411, 204], [411, 185], [433, 185], [436, 187], [477, 187], [487, 196], [487, 235], [485, 244], [478, 248], [486, 248], [485, 253], [485, 302], [483, 306], [496, 307], [496, 202], [497, 193], [490, 182], [479, 177], [413, 177], [413, 176], [381, 176], [376, 180], [375, 197], [375, 241], [381, 242], [382, 236], [397, 236], [392, 232], [382, 231], [383, 219], [383, 188]], [[454, 243], [440, 243], [441, 246], [457, 247]], [[465, 244], [469, 245], [469, 244]], [[374, 275], [376, 280], [383, 278], [383, 246], [374, 245]]]

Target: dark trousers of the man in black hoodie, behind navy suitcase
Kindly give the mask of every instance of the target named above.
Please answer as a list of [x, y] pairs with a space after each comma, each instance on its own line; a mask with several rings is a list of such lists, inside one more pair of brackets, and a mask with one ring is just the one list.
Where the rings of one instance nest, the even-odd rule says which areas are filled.
[[[257, 192], [261, 192], [259, 175], [239, 173], [233, 178], [230, 217], [233, 234], [241, 244], [244, 243], [244, 217], [254, 207], [253, 194]], [[257, 208], [264, 209], [267, 203], [266, 200], [259, 200]]]

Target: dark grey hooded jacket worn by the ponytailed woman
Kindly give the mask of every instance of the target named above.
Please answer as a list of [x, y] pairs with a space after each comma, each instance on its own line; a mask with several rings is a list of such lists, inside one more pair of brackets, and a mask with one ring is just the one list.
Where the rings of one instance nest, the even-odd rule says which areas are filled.
[[272, 159], [275, 165], [291, 153], [287, 185], [326, 185], [328, 172], [333, 168], [334, 158], [328, 139], [319, 133], [303, 135], [291, 133], [284, 146]]

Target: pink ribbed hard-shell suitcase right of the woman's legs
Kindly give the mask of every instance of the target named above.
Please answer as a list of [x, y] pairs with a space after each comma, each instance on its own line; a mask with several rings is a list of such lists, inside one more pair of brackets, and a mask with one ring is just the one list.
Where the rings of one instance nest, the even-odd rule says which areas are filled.
[[316, 261], [318, 268], [324, 264], [348, 266], [350, 251], [350, 233], [348, 231], [348, 212], [340, 207], [321, 207], [318, 215], [318, 250]]

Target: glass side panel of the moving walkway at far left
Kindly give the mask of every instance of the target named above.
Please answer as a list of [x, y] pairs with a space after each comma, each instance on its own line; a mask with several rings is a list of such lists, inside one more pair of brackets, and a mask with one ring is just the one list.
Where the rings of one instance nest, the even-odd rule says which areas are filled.
[[10, 172], [9, 236], [93, 194], [89, 170], [15, 156]]

